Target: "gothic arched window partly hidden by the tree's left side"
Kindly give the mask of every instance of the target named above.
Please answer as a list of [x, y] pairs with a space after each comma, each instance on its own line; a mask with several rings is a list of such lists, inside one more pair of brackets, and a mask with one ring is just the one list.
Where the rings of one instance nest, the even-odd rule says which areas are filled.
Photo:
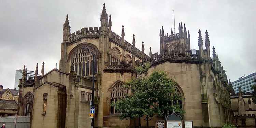
[[[129, 90], [122, 87], [123, 83], [116, 82], [112, 88], [109, 90], [110, 94], [110, 104], [115, 103], [118, 99], [124, 98], [126, 95], [129, 95]], [[118, 111], [115, 110], [114, 106], [110, 105], [110, 114], [118, 114]]]

